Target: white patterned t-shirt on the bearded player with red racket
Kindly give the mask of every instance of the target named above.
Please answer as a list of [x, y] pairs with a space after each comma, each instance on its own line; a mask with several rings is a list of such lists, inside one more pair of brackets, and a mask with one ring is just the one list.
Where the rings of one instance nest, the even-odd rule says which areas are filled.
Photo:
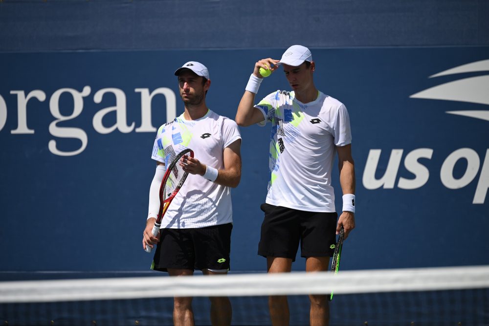
[[[151, 158], [165, 163], [190, 148], [194, 157], [215, 169], [223, 169], [223, 151], [241, 139], [233, 120], [209, 110], [202, 118], [185, 120], [183, 114], [158, 129]], [[173, 199], [162, 228], [189, 229], [232, 222], [231, 190], [201, 175], [189, 174]]]

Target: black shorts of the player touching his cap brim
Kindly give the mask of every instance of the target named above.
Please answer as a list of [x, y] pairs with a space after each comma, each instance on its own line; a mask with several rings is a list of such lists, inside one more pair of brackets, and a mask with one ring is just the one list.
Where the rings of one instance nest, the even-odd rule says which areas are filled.
[[336, 243], [336, 213], [306, 212], [262, 204], [262, 223], [258, 255], [290, 258], [301, 244], [301, 257], [332, 257]]

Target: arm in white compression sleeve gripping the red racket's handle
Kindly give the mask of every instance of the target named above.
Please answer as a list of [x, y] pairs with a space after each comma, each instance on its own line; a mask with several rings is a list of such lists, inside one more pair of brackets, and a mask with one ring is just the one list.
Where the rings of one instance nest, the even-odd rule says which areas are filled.
[[165, 165], [161, 162], [157, 162], [155, 176], [153, 177], [150, 186], [148, 219], [146, 220], [146, 227], [143, 231], [143, 248], [146, 248], [146, 245], [153, 248], [154, 244], [158, 242], [159, 234], [156, 237], [153, 236], [152, 230], [159, 211], [159, 188], [161, 186], [161, 181], [165, 176], [165, 171]]

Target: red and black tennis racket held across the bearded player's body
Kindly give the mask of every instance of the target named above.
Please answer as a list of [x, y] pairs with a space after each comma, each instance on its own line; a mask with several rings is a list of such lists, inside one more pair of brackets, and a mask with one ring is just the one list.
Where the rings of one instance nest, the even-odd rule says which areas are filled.
[[[187, 179], [188, 172], [184, 172], [182, 167], [178, 164], [178, 161], [183, 155], [194, 157], [194, 151], [191, 149], [186, 149], [179, 152], [170, 165], [166, 168], [165, 175], [161, 181], [161, 186], [159, 187], [159, 212], [158, 217], [156, 218], [155, 226], [153, 226], [153, 230], [151, 231], [155, 237], [159, 233], [161, 220], [163, 219], [168, 206], [170, 206], [173, 198], [177, 196], [177, 193], [185, 182], [185, 179]], [[149, 253], [153, 250], [153, 248], [146, 245], [146, 249], [144, 250]]]

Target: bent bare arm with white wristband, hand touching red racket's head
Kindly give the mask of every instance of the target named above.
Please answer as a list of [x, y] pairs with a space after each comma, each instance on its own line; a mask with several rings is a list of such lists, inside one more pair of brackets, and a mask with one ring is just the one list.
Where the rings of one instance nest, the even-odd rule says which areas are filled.
[[[262, 115], [263, 116], [263, 115]], [[241, 139], [232, 142], [223, 152], [224, 169], [214, 169], [199, 161], [197, 157], [183, 156], [181, 166], [190, 174], [199, 174], [207, 178], [207, 170], [214, 170], [211, 181], [226, 187], [236, 188], [241, 180]], [[214, 179], [214, 180], [212, 180]]]

